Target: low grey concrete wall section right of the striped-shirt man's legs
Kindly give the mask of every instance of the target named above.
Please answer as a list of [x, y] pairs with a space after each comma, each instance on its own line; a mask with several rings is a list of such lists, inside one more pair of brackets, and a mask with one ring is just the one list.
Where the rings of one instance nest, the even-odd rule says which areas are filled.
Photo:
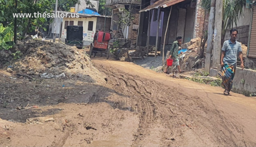
[[250, 96], [256, 93], [256, 70], [236, 68], [233, 92]]

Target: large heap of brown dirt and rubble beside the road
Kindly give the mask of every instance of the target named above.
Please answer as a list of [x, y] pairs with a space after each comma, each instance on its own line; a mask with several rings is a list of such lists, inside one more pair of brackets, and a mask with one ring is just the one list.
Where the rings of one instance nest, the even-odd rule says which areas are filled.
[[17, 78], [64, 76], [90, 83], [106, 82], [84, 50], [78, 50], [76, 47], [30, 39], [17, 42], [13, 50], [15, 51], [12, 52], [20, 51], [21, 58], [9, 61], [10, 64], [5, 64], [4, 68], [11, 68]]

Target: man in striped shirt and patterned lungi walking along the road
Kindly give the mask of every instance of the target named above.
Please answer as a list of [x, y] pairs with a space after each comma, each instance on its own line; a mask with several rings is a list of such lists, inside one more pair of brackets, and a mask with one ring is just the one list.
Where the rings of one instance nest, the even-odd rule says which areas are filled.
[[241, 43], [236, 41], [238, 31], [230, 30], [230, 40], [224, 42], [221, 49], [220, 64], [222, 66], [219, 75], [222, 77], [222, 86], [225, 87], [224, 95], [229, 95], [233, 87], [233, 79], [236, 71], [237, 58], [240, 58], [241, 68], [244, 69]]

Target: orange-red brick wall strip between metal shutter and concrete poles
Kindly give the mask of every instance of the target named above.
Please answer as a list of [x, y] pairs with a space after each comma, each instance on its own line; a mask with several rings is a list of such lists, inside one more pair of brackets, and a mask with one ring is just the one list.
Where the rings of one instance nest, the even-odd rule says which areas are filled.
[[[194, 36], [193, 38], [202, 37], [203, 28], [204, 32], [208, 29], [208, 17], [209, 14], [205, 14], [205, 10], [201, 8], [200, 5], [201, 0], [197, 0], [197, 7], [196, 7], [196, 17], [195, 17], [195, 28], [194, 28]], [[205, 22], [204, 22], [205, 16]]]

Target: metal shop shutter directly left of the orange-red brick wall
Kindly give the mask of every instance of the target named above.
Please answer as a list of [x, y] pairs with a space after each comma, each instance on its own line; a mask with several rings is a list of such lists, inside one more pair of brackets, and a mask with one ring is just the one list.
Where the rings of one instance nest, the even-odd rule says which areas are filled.
[[187, 8], [184, 43], [189, 42], [193, 37], [194, 20], [195, 20], [195, 8]]

